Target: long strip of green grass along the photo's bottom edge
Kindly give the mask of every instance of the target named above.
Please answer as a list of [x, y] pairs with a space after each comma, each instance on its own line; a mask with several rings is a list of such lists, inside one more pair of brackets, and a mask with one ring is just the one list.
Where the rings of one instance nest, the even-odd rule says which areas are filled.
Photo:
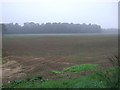
[[96, 74], [66, 80], [48, 80], [43, 83], [21, 81], [6, 85], [6, 88], [105, 88], [105, 83]]

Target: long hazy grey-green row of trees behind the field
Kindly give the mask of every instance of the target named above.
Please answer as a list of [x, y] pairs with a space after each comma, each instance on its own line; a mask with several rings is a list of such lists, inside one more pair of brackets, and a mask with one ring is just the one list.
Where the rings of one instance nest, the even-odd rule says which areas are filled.
[[100, 33], [101, 26], [96, 24], [73, 23], [18, 23], [1, 24], [3, 34], [41, 34], [41, 33]]

